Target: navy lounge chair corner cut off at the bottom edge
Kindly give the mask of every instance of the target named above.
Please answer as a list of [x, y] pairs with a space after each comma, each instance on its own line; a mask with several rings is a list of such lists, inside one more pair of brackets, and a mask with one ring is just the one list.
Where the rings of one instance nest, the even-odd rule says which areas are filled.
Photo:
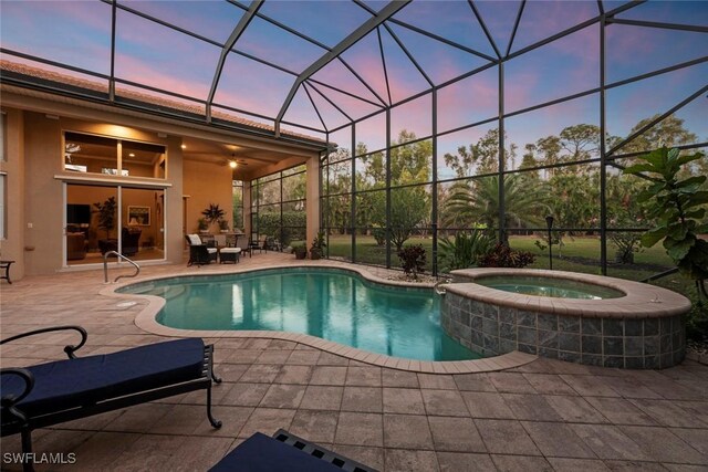
[[236, 447], [209, 472], [375, 472], [362, 463], [311, 443], [285, 430], [272, 438], [257, 432]]

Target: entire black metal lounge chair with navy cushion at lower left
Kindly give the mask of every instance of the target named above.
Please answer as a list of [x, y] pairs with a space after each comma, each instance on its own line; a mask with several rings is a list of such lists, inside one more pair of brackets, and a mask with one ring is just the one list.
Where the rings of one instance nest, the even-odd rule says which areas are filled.
[[27, 368], [0, 369], [1, 436], [22, 436], [23, 469], [32, 468], [32, 431], [38, 428], [103, 413], [188, 391], [207, 390], [207, 418], [211, 416], [214, 346], [185, 338], [76, 357], [87, 339], [81, 326], [37, 329], [3, 339], [6, 344], [42, 333], [75, 331], [81, 342], [64, 347], [69, 359]]

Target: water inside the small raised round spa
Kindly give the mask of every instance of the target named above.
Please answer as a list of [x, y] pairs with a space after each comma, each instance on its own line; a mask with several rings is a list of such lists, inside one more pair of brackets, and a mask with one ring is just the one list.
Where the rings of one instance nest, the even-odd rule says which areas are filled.
[[475, 279], [475, 283], [504, 292], [558, 298], [605, 300], [625, 296], [618, 290], [568, 279], [489, 275]]

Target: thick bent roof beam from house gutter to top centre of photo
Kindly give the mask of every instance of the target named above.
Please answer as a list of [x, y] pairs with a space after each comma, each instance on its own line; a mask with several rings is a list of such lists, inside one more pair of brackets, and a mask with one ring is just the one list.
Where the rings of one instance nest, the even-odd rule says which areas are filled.
[[292, 84], [292, 87], [290, 88], [290, 92], [288, 93], [288, 96], [285, 97], [285, 101], [283, 102], [283, 105], [280, 108], [280, 112], [278, 113], [278, 116], [275, 117], [275, 135], [277, 136], [280, 135], [280, 122], [283, 119], [283, 116], [285, 115], [285, 111], [292, 103], [292, 99], [295, 97], [295, 93], [298, 92], [300, 84], [302, 84], [304, 81], [306, 81], [312, 75], [314, 75], [319, 70], [327, 65], [331, 61], [333, 61], [344, 51], [346, 51], [352, 45], [354, 45], [354, 43], [356, 43], [358, 40], [361, 40], [366, 34], [368, 34], [374, 29], [376, 29], [376, 27], [378, 27], [384, 21], [388, 20], [391, 17], [396, 14], [398, 10], [407, 6], [410, 0], [392, 1], [386, 7], [381, 9], [378, 14], [366, 20], [361, 27], [354, 30], [350, 35], [347, 35], [342, 41], [340, 41], [337, 45], [332, 48], [331, 51], [323, 54], [320, 59], [313, 62], [308, 69], [302, 71], [302, 73], [295, 80], [295, 83]]

